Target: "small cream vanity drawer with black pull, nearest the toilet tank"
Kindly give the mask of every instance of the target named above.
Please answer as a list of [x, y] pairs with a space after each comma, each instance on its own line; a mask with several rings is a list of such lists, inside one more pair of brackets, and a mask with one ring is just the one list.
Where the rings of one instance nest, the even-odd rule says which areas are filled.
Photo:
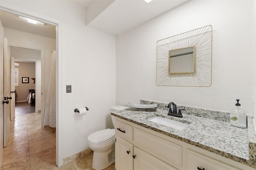
[[116, 120], [116, 134], [132, 140], [132, 126]]

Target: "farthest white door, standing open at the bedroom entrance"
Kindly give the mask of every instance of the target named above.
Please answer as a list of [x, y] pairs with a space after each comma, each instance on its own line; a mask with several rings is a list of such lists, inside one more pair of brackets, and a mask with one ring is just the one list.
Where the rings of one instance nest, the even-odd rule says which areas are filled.
[[12, 120], [15, 116], [15, 59], [11, 57], [11, 70], [10, 70], [10, 93], [12, 100], [10, 101], [10, 107], [11, 107], [11, 115], [10, 115], [10, 120]]

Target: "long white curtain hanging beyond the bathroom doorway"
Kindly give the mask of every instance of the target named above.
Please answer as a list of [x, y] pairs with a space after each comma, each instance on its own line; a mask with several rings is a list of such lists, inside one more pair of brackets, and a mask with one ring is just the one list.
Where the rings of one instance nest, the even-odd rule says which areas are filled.
[[52, 51], [50, 76], [44, 111], [44, 125], [56, 127], [56, 51]]

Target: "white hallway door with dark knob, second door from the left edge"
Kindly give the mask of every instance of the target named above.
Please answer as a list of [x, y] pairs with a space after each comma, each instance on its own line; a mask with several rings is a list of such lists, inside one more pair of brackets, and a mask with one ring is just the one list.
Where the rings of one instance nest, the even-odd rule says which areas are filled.
[[10, 137], [10, 95], [10, 45], [4, 38], [4, 99], [9, 101], [4, 105], [4, 147]]

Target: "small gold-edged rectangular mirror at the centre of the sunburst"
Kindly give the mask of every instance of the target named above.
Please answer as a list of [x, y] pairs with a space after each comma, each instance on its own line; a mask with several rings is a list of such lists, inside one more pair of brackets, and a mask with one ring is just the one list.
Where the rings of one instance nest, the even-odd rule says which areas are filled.
[[169, 74], [196, 72], [195, 46], [169, 51]]

